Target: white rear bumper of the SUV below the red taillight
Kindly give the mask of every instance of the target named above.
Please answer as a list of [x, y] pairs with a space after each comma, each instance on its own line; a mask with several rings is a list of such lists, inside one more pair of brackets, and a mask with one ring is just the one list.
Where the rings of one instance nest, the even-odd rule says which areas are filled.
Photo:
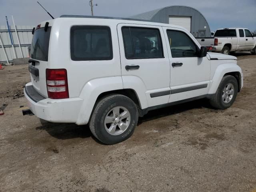
[[[30, 86], [28, 83], [26, 86]], [[28, 107], [38, 118], [50, 122], [58, 123], [76, 123], [80, 106], [83, 100], [81, 98], [68, 98], [68, 99], [50, 99], [44, 98], [36, 102], [25, 91], [24, 96], [27, 100]]]

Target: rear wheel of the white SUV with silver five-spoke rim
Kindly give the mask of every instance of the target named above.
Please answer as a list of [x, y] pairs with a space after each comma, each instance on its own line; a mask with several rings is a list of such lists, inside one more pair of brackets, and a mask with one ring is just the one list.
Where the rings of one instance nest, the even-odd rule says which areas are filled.
[[137, 122], [136, 104], [126, 96], [114, 94], [98, 102], [89, 126], [98, 140], [111, 145], [128, 139], [133, 134]]

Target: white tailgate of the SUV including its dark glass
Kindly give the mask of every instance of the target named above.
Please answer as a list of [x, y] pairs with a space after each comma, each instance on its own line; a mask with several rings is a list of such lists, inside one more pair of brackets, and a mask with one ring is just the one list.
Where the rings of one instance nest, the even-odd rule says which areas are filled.
[[[50, 43], [51, 26], [44, 28], [38, 26], [34, 31], [30, 50], [30, 76], [31, 81], [38, 93], [48, 97], [46, 88], [46, 68], [48, 68], [48, 50]], [[38, 73], [38, 74], [37, 74]]]

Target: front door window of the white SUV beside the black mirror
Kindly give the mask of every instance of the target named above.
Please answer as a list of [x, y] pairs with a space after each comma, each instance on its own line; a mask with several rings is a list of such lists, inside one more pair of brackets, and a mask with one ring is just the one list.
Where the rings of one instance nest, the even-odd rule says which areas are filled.
[[181, 31], [167, 30], [172, 57], [197, 57], [197, 46]]

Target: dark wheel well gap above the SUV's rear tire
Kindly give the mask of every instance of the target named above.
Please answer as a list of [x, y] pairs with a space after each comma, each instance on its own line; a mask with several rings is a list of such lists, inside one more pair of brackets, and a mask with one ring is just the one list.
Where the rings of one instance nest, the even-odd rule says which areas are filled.
[[103, 97], [110, 95], [110, 94], [124, 95], [124, 96], [130, 98], [138, 106], [138, 108], [141, 108], [140, 100], [138, 99], [138, 96], [133, 89], [120, 89], [120, 90], [112, 90], [112, 91], [103, 92], [98, 96], [96, 103], [98, 101], [100, 101]]

